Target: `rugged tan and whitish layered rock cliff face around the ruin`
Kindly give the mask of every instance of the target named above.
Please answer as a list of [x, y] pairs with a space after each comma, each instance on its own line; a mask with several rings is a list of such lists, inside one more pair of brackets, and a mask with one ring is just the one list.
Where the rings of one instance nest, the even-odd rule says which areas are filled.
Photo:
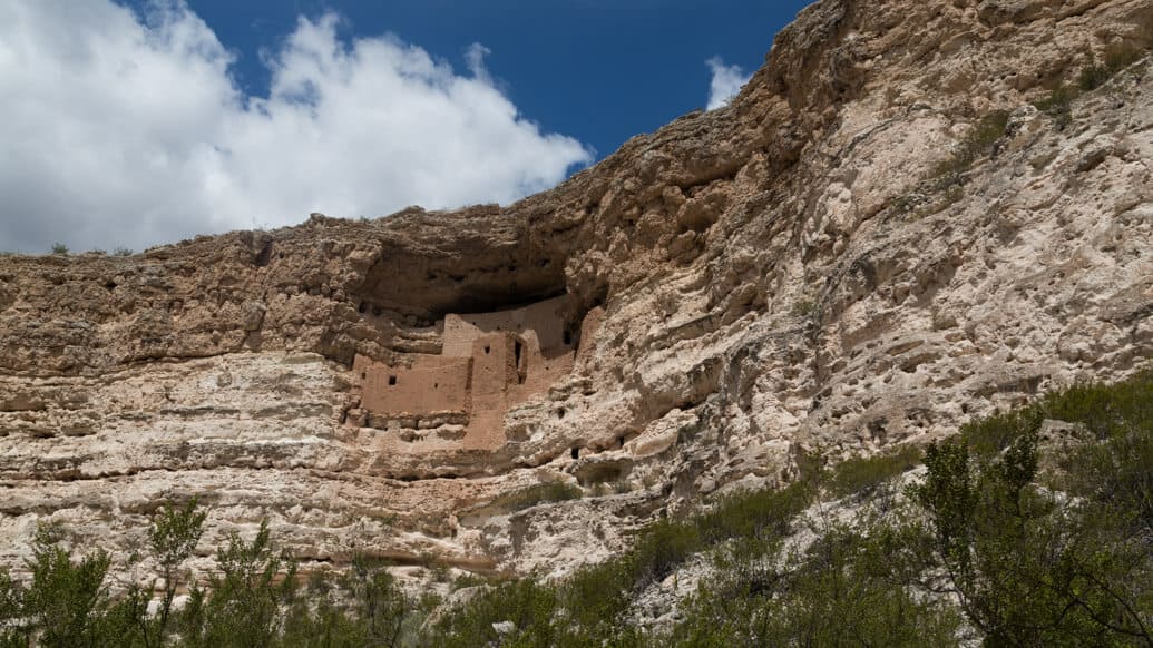
[[[1151, 44], [1150, 0], [822, 0], [729, 107], [507, 208], [0, 257], [0, 563], [199, 495], [204, 549], [267, 517], [306, 564], [563, 571], [800, 450], [1120, 377], [1153, 356]], [[380, 395], [425, 369], [443, 412]], [[555, 481], [585, 497], [513, 511]]]

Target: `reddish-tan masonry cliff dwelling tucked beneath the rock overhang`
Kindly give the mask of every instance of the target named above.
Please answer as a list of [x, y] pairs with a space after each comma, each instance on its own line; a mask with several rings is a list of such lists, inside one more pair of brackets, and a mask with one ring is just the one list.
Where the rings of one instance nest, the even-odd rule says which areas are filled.
[[579, 340], [591, 339], [598, 315], [585, 317], [576, 331], [568, 312], [570, 299], [559, 296], [512, 310], [449, 314], [437, 323], [439, 355], [400, 353], [391, 362], [356, 355], [366, 424], [437, 428], [438, 438], [466, 449], [504, 445], [508, 409], [572, 371]]

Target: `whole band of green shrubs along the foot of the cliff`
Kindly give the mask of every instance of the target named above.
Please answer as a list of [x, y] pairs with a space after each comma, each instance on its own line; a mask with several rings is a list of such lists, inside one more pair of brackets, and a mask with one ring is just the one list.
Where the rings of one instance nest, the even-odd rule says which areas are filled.
[[[1042, 430], [1053, 429], [1069, 438], [1046, 457], [1057, 440]], [[568, 578], [459, 577], [454, 588], [477, 589], [435, 616], [440, 602], [405, 594], [380, 560], [356, 558], [345, 574], [302, 586], [266, 525], [219, 548], [217, 572], [188, 583], [188, 603], [172, 610], [204, 521], [195, 502], [157, 514], [148, 536], [156, 578], [116, 596], [106, 553], [76, 559], [65, 529], [45, 526], [31, 581], [0, 573], [0, 646], [1153, 642], [1153, 375], [1077, 385], [974, 421], [925, 449], [926, 476], [903, 496], [880, 489], [919, 461], [914, 446], [831, 468], [802, 455], [797, 483], [660, 520], [627, 552]], [[813, 506], [822, 493], [846, 499]], [[571, 484], [538, 484], [506, 504], [576, 495]], [[707, 577], [679, 620], [642, 633], [633, 602], [689, 560]], [[153, 592], [160, 601], [149, 613]]]

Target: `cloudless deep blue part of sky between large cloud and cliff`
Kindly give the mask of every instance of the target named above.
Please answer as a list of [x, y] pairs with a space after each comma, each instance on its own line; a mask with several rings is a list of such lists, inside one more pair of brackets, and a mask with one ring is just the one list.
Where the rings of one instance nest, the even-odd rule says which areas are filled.
[[[141, 0], [134, 0], [141, 6]], [[250, 93], [267, 92], [259, 51], [299, 16], [341, 16], [344, 38], [392, 32], [464, 69], [473, 43], [525, 115], [591, 145], [598, 158], [627, 138], [703, 108], [719, 56], [747, 73], [802, 0], [191, 0], [238, 54]]]

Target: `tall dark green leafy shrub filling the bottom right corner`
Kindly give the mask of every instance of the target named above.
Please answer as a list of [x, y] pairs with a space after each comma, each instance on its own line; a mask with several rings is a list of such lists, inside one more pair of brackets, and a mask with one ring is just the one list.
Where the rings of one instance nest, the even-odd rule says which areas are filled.
[[930, 445], [928, 476], [911, 489], [928, 514], [926, 572], [955, 594], [993, 646], [1153, 642], [1153, 563], [1110, 511], [1061, 505], [1033, 484], [1037, 438], [1026, 432], [993, 459], [964, 443]]

